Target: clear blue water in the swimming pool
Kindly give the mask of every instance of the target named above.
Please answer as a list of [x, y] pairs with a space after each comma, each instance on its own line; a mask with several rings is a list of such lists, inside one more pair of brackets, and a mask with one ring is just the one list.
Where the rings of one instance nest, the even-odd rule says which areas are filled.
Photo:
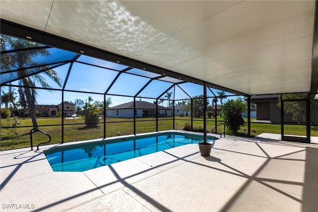
[[[215, 137], [208, 137], [208, 142], [216, 139]], [[202, 141], [203, 136], [160, 133], [147, 137], [61, 146], [45, 150], [44, 154], [53, 171], [86, 171], [157, 151]]]

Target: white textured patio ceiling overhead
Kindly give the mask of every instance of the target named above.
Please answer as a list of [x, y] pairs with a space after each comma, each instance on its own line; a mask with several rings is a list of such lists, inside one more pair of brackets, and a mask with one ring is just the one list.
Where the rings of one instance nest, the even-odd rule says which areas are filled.
[[315, 6], [314, 0], [1, 0], [0, 18], [249, 95], [314, 94]]

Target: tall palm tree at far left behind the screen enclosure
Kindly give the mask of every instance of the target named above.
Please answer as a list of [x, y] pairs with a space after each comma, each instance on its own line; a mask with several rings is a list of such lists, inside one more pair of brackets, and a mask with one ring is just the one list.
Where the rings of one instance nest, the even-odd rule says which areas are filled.
[[[34, 59], [38, 56], [40, 57], [48, 57], [50, 55], [49, 51], [45, 48], [39, 48], [40, 44], [29, 42], [22, 39], [13, 38], [6, 35], [1, 35], [0, 37], [1, 42], [1, 51], [6, 49], [13, 49], [13, 50], [23, 50], [26, 48], [33, 48], [32, 51], [18, 51], [14, 54], [1, 54], [1, 69], [2, 70], [13, 70], [17, 69], [20, 70], [17, 72], [19, 79], [18, 84], [23, 86], [23, 93], [26, 97], [26, 102], [29, 107], [30, 116], [32, 119], [33, 127], [37, 127], [36, 122], [36, 109], [35, 109], [35, 102], [36, 102], [36, 83], [39, 83], [41, 86], [45, 88], [51, 88], [51, 85], [46, 82], [43, 74], [49, 76], [53, 79], [59, 86], [62, 86], [61, 79], [58, 76], [58, 73], [50, 69], [48, 66], [41, 66], [42, 64], [38, 64], [34, 62]], [[26, 67], [35, 67], [32, 68], [32, 71], [26, 69]], [[32, 72], [40, 72], [43, 71], [43, 74], [32, 74]], [[29, 75], [29, 76], [27, 76]]]

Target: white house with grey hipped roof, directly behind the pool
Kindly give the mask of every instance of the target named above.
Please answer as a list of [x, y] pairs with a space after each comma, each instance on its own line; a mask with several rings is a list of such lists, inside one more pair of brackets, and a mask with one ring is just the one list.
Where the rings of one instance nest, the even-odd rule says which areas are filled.
[[[158, 105], [159, 117], [171, 117], [172, 109]], [[109, 118], [134, 118], [134, 101], [110, 107], [106, 111]], [[136, 118], [156, 117], [156, 104], [136, 101]]]

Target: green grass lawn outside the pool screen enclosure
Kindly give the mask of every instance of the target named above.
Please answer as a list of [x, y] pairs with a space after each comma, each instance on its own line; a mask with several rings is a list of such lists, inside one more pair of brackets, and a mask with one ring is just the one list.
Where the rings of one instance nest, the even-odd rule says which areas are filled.
[[[12, 120], [9, 121], [12, 122]], [[18, 119], [18, 121], [20, 122], [20, 124], [16, 125], [14, 129], [1, 128], [1, 150], [30, 146], [29, 132], [33, 128], [30, 127], [32, 125], [32, 122], [30, 118], [27, 118], [25, 120]], [[119, 132], [120, 135], [134, 134], [133, 121], [134, 119], [106, 118], [106, 137], [117, 136]], [[222, 119], [218, 118], [218, 124], [220, 124], [221, 121]], [[38, 118], [37, 122], [40, 126], [39, 129], [47, 132], [52, 137], [51, 143], [60, 143], [62, 141], [62, 126], [54, 126], [62, 124], [61, 118]], [[84, 120], [81, 118], [64, 119], [64, 141], [69, 142], [103, 138], [103, 123], [104, 120], [101, 119], [100, 124], [98, 124], [97, 128], [86, 128]], [[186, 123], [191, 123], [190, 117], [176, 117], [175, 129], [183, 130]], [[207, 123], [208, 132], [211, 132], [212, 128], [215, 126], [215, 119], [209, 118]], [[2, 119], [1, 127], [6, 126], [9, 126], [8, 122], [5, 119]], [[194, 118], [193, 128], [198, 131], [202, 131], [203, 119]], [[171, 129], [173, 129], [172, 118], [159, 118], [158, 131]], [[247, 133], [247, 124], [239, 130], [239, 133], [241, 133], [241, 135], [244, 134], [244, 129], [246, 129]], [[155, 131], [156, 118], [136, 119], [136, 134]], [[218, 133], [223, 134], [222, 126], [218, 127]], [[251, 136], [256, 136], [261, 133], [280, 134], [280, 125], [251, 123]], [[285, 134], [306, 136], [306, 127], [296, 125], [285, 126]], [[312, 136], [318, 136], [318, 127], [312, 127], [311, 134]], [[46, 141], [48, 141], [48, 138], [45, 135], [39, 132], [33, 134], [33, 146], [36, 146], [40, 142]]]

